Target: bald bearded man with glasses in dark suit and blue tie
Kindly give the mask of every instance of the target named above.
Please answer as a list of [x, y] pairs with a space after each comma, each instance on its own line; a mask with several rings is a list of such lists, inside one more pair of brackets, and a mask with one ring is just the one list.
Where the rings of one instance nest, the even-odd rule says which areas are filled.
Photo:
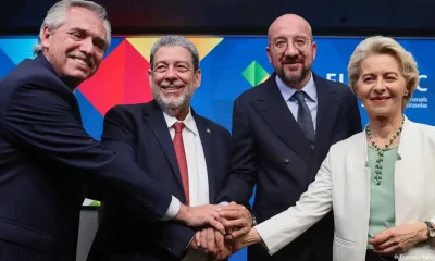
[[[270, 26], [268, 39], [275, 73], [234, 102], [231, 175], [217, 200], [245, 202], [257, 185], [257, 222], [294, 206], [314, 181], [330, 147], [362, 129], [349, 87], [311, 71], [316, 45], [307, 21], [283, 15]], [[333, 234], [331, 213], [272, 257], [263, 246], [249, 247], [248, 259], [332, 260]]]

